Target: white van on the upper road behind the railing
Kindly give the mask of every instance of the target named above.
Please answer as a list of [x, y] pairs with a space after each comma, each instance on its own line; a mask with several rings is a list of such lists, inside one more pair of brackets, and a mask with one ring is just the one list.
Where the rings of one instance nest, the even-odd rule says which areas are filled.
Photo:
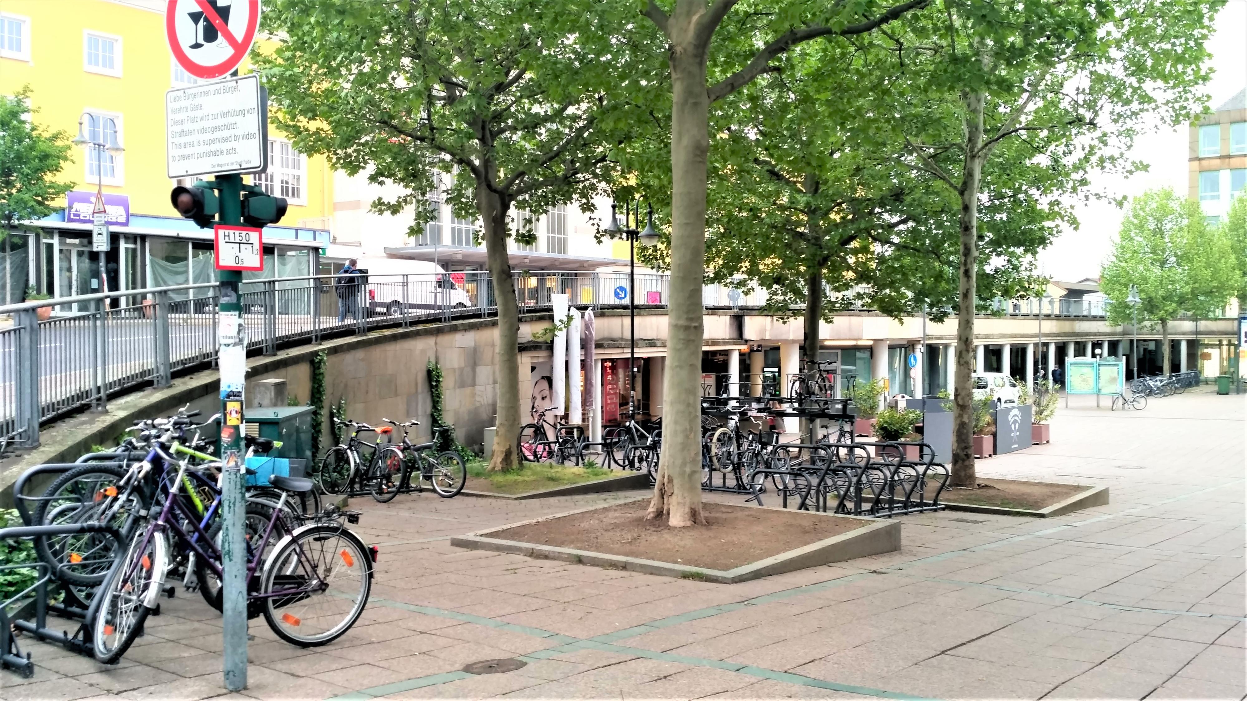
[[455, 284], [463, 273], [448, 273], [429, 261], [410, 258], [358, 258], [368, 286], [369, 314], [402, 314], [414, 309], [463, 309], [473, 306]]

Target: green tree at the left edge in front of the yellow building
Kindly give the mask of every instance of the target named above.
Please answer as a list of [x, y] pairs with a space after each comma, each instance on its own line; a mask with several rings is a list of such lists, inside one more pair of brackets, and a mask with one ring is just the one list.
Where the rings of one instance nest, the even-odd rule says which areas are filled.
[[70, 157], [70, 137], [31, 120], [30, 90], [0, 95], [0, 236], [52, 213], [74, 183], [56, 182]]

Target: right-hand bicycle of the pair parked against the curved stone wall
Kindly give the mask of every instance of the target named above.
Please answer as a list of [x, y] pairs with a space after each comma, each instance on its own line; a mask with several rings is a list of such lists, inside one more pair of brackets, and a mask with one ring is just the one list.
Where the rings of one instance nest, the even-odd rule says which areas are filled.
[[[400, 491], [412, 491], [413, 489], [419, 491], [420, 483], [424, 481], [431, 484], [438, 496], [444, 499], [450, 499], [463, 491], [464, 484], [468, 483], [468, 465], [464, 464], [464, 459], [458, 453], [446, 450], [434, 457], [436, 440], [413, 445], [408, 440], [408, 434], [410, 428], [420, 425], [420, 422], [392, 422], [385, 418], [382, 420], [394, 428], [402, 428], [403, 440], [398, 445], [387, 445], [373, 463], [373, 469], [377, 471], [368, 480], [373, 499], [380, 503], [390, 501]], [[434, 438], [443, 430], [446, 428], [435, 427], [433, 429]], [[420, 475], [414, 488], [412, 486], [413, 473]]]

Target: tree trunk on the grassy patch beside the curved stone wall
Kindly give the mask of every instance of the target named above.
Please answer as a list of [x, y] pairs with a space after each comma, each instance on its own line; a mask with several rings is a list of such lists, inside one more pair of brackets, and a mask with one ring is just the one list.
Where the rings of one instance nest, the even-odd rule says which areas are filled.
[[[498, 301], [498, 432], [489, 470], [516, 467], [520, 438], [520, 317], [515, 303], [511, 263], [506, 257], [508, 203], [484, 183], [476, 185], [476, 210], [485, 234], [485, 259]], [[484, 294], [485, 291], [481, 291]]]

